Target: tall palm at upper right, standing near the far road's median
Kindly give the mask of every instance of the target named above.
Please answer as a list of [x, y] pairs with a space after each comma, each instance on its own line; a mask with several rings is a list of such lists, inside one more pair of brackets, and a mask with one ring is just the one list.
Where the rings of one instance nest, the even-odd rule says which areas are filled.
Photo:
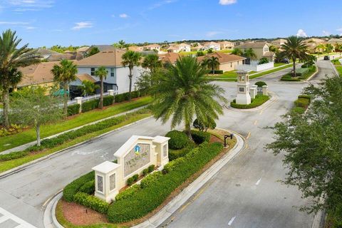
[[296, 77], [296, 59], [299, 58], [300, 61], [308, 58], [308, 46], [304, 43], [304, 38], [299, 36], [289, 36], [286, 38], [286, 42], [281, 45], [281, 53], [284, 56], [290, 58], [294, 64], [294, 73], [293, 76]]

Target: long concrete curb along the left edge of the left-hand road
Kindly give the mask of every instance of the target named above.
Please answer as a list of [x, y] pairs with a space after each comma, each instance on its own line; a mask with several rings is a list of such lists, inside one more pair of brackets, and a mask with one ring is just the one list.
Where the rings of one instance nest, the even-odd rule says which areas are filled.
[[80, 146], [82, 146], [82, 145], [86, 145], [86, 144], [88, 144], [88, 143], [90, 143], [90, 142], [93, 142], [93, 141], [95, 141], [95, 140], [100, 140], [101, 138], [105, 137], [106, 135], [110, 135], [111, 133], [115, 133], [115, 132], [118, 131], [118, 130], [123, 130], [123, 129], [125, 129], [125, 128], [130, 127], [131, 125], [138, 124], [138, 123], [140, 123], [140, 122], [142, 122], [142, 121], [144, 121], [144, 120], [147, 120], [147, 119], [149, 119], [149, 118], [152, 118], [152, 115], [149, 116], [149, 117], [147, 117], [147, 118], [143, 118], [143, 119], [141, 119], [141, 120], [135, 121], [135, 122], [133, 122], [133, 123], [129, 123], [128, 125], [122, 126], [122, 127], [117, 128], [117, 129], [115, 129], [115, 130], [110, 130], [110, 131], [108, 131], [108, 133], [103, 133], [102, 135], [98, 135], [98, 136], [96, 136], [96, 137], [94, 137], [94, 138], [91, 138], [90, 140], [86, 140], [86, 141], [83, 141], [83, 142], [79, 142], [78, 144], [72, 145], [71, 147], [67, 147], [67, 148], [65, 148], [65, 149], [63, 149], [63, 150], [58, 150], [58, 151], [56, 151], [56, 152], [53, 152], [53, 153], [50, 154], [50, 155], [46, 155], [46, 156], [40, 157], [40, 158], [38, 158], [37, 160], [33, 160], [33, 161], [28, 162], [28, 163], [26, 163], [26, 164], [24, 164], [24, 165], [20, 165], [20, 166], [15, 167], [15, 168], [13, 168], [13, 169], [11, 169], [11, 170], [7, 170], [7, 171], [5, 171], [5, 172], [2, 172], [2, 173], [0, 174], [0, 179], [2, 179], [2, 178], [4, 178], [4, 177], [8, 177], [8, 176], [10, 176], [10, 175], [13, 175], [14, 173], [17, 173], [17, 172], [21, 172], [21, 171], [25, 170], [27, 167], [31, 167], [31, 166], [33, 166], [33, 165], [36, 165], [36, 164], [38, 164], [39, 162], [43, 162], [44, 160], [51, 159], [51, 158], [56, 157], [56, 156], [58, 156], [58, 155], [63, 155], [63, 153], [68, 152], [68, 150], [73, 150], [73, 149], [75, 149], [75, 148], [77, 148], [77, 147], [80, 147]]

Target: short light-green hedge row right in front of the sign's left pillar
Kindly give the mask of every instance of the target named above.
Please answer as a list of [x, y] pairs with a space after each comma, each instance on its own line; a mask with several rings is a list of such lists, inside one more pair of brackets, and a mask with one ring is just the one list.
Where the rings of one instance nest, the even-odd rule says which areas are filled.
[[81, 204], [85, 207], [89, 207], [96, 212], [100, 212], [102, 214], [108, 212], [109, 204], [101, 199], [98, 199], [98, 197], [95, 197], [93, 195], [88, 195], [84, 192], [78, 192], [74, 196], [74, 199], [75, 202], [77, 202], [78, 204]]

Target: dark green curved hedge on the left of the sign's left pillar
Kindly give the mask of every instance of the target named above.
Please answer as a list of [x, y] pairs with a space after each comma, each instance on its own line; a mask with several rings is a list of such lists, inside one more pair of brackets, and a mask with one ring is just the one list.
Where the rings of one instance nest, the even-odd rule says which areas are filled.
[[73, 202], [76, 193], [81, 189], [83, 185], [91, 180], [95, 179], [95, 172], [88, 172], [86, 175], [83, 175], [70, 184], [66, 185], [63, 190], [63, 198], [66, 199], [67, 202]]

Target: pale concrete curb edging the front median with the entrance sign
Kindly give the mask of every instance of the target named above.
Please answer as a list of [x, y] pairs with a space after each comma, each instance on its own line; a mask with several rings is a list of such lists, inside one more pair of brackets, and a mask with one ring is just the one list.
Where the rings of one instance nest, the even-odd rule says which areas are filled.
[[[219, 128], [218, 128], [219, 129]], [[177, 209], [180, 209], [182, 204], [187, 202], [192, 195], [194, 195], [201, 187], [203, 187], [214, 175], [219, 172], [219, 170], [224, 167], [229, 161], [234, 159], [240, 152], [245, 149], [245, 139], [239, 133], [236, 133], [232, 130], [227, 130], [229, 132], [234, 133], [237, 138], [237, 143], [234, 147], [227, 152], [222, 158], [217, 160], [211, 167], [205, 170], [202, 175], [197, 177], [189, 186], [187, 186], [180, 194], [178, 194], [175, 198], [173, 198], [165, 207], [162, 207], [157, 214], [147, 219], [145, 222], [142, 222], [138, 225], [135, 225], [133, 228], [155, 228], [160, 226], [163, 222], [165, 222]], [[46, 210], [44, 212], [44, 227], [45, 228], [62, 228], [61, 224], [56, 219], [56, 206], [61, 199], [63, 192], [59, 193], [55, 197], [51, 199], [48, 203]]]

